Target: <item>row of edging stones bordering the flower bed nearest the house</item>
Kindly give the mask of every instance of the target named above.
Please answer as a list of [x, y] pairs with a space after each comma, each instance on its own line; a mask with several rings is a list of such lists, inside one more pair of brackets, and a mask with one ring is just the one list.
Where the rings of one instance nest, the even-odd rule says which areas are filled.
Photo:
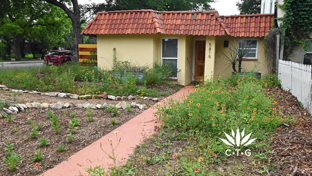
[[111, 99], [111, 100], [134, 100], [134, 99], [144, 99], [144, 100], [153, 100], [153, 101], [158, 101], [158, 98], [151, 98], [151, 97], [140, 97], [140, 96], [133, 96], [129, 95], [128, 97], [126, 96], [113, 96], [113, 95], [107, 95], [106, 92], [104, 92], [102, 95], [77, 95], [77, 94], [71, 94], [71, 93], [60, 93], [60, 92], [46, 92], [46, 93], [41, 93], [37, 91], [28, 91], [28, 90], [15, 90], [15, 89], [9, 89], [5, 85], [0, 85], [0, 89], [2, 90], [8, 90], [8, 91], [13, 91], [13, 92], [18, 92], [18, 93], [33, 93], [33, 94], [41, 94], [41, 95], [46, 95], [46, 96], [51, 96], [51, 97], [66, 97], [66, 98], [74, 98], [74, 99]]

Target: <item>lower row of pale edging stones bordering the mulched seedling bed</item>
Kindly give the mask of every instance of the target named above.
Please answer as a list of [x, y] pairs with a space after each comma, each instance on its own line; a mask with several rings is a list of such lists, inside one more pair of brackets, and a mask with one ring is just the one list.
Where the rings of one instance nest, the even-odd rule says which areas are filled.
[[84, 103], [84, 104], [74, 104], [74, 103], [63, 103], [61, 101], [57, 102], [57, 103], [38, 103], [38, 102], [32, 102], [32, 103], [25, 103], [25, 104], [16, 104], [13, 106], [10, 106], [8, 108], [0, 108], [0, 119], [2, 117], [5, 117], [7, 115], [10, 114], [17, 114], [18, 112], [22, 112], [27, 108], [57, 108], [57, 109], [61, 109], [61, 108], [91, 108], [91, 109], [100, 109], [100, 108], [108, 108], [110, 107], [116, 107], [116, 108], [122, 108], [125, 109], [127, 108], [127, 106], [130, 105], [131, 108], [139, 108], [141, 110], [143, 109], [147, 109], [147, 106], [145, 104], [139, 104], [139, 103], [135, 103], [132, 102], [131, 104], [126, 103], [125, 101], [119, 102], [116, 105], [113, 104], [92, 104], [92, 103]]

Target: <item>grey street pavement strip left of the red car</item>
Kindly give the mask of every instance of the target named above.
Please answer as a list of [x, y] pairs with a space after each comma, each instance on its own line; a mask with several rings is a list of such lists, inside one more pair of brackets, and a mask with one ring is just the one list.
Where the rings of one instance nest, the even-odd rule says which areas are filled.
[[0, 62], [0, 70], [8, 69], [8, 68], [33, 68], [33, 67], [42, 67], [42, 66], [43, 66], [43, 60]]

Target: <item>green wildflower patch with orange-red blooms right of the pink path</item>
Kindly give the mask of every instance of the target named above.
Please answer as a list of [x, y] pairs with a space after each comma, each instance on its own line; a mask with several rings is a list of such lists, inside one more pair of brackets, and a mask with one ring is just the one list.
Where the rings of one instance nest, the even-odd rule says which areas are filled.
[[[275, 75], [267, 75], [264, 80], [250, 75], [216, 78], [213, 82], [195, 86], [183, 102], [168, 100], [165, 106], [158, 106], [155, 113], [163, 121], [159, 133], [138, 145], [127, 163], [110, 168], [109, 174], [227, 175], [216, 166], [229, 158], [233, 159], [232, 163], [240, 158], [254, 164], [267, 160], [271, 134], [280, 130], [282, 123], [292, 121], [292, 117], [281, 113], [281, 109], [274, 108], [275, 95], [266, 91], [268, 86], [280, 86]], [[233, 141], [225, 133], [231, 136], [234, 133]], [[237, 142], [236, 136], [241, 137], [242, 143]], [[240, 144], [238, 147], [237, 143]], [[250, 144], [243, 146], [247, 143]], [[226, 155], [227, 149], [231, 150], [228, 154], [232, 157]], [[244, 153], [239, 152], [237, 160], [232, 154], [236, 149]], [[237, 166], [232, 172], [244, 175], [241, 169], [244, 170]], [[263, 168], [256, 172], [266, 174]]]

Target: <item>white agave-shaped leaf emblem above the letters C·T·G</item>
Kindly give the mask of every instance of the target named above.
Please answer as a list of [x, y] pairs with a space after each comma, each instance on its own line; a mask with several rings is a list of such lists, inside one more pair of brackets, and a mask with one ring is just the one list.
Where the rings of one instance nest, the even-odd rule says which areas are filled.
[[[232, 128], [231, 128], [232, 129]], [[251, 132], [252, 133], [252, 132]], [[254, 140], [256, 140], [257, 138], [254, 138], [254, 139], [251, 139], [251, 140], [249, 140], [248, 142], [247, 142], [247, 140], [250, 138], [250, 135], [251, 135], [251, 133], [249, 133], [248, 135], [246, 135], [245, 136], [245, 128], [243, 129], [243, 131], [241, 132], [241, 134], [239, 133], [239, 129], [238, 129], [238, 127], [237, 127], [237, 130], [236, 130], [236, 142], [235, 142], [235, 140], [233, 139], [233, 138], [235, 138], [235, 133], [234, 133], [234, 131], [233, 131], [233, 129], [232, 129], [232, 136], [233, 136], [233, 138], [230, 136], [230, 135], [228, 135], [227, 133], [225, 133], [224, 132], [224, 134], [225, 134], [225, 136], [227, 137], [227, 140], [226, 139], [222, 139], [222, 138], [219, 138], [219, 139], [221, 139], [225, 144], [227, 144], [227, 145], [230, 145], [230, 146], [235, 146], [235, 143], [236, 143], [236, 146], [237, 147], [239, 147], [240, 145], [243, 145], [244, 143], [244, 145], [243, 146], [247, 146], [247, 145], [249, 145], [249, 144], [251, 144]], [[244, 137], [245, 136], [245, 137]], [[244, 137], [242, 140], [241, 140], [241, 138], [242, 137]], [[231, 143], [233, 144], [231, 144]], [[247, 142], [247, 143], [246, 143]]]

